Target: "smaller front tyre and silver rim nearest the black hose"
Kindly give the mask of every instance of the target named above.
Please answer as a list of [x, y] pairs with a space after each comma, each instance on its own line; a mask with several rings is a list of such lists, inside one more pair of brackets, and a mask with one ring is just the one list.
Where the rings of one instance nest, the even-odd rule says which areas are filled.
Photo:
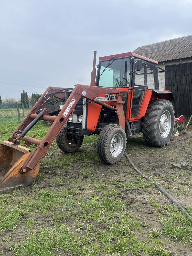
[[125, 152], [127, 139], [125, 130], [117, 124], [106, 125], [99, 134], [97, 154], [106, 164], [116, 164]]

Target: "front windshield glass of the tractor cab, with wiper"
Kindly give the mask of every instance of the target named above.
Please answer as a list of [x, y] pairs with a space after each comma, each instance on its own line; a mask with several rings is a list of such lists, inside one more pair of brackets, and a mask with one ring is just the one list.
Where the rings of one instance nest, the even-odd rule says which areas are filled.
[[[108, 66], [106, 68], [106, 66]], [[129, 58], [102, 61], [99, 73], [99, 86], [102, 87], [129, 87], [130, 63]], [[105, 70], [104, 70], [105, 69]], [[103, 72], [104, 70], [104, 72]]]

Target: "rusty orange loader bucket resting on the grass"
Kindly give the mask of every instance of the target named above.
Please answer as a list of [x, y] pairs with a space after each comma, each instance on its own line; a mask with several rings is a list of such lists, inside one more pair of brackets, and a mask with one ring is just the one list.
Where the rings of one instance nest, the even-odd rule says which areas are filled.
[[29, 148], [9, 141], [0, 144], [0, 193], [14, 188], [26, 187], [34, 181], [39, 172], [39, 164], [34, 170], [20, 173], [31, 152]]

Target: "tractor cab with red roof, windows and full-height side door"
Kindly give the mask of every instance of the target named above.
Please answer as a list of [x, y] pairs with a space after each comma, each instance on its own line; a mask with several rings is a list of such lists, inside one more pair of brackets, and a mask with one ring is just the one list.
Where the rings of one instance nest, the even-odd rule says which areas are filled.
[[146, 91], [159, 90], [157, 61], [132, 52], [101, 57], [95, 85], [123, 90], [125, 120], [134, 120]]

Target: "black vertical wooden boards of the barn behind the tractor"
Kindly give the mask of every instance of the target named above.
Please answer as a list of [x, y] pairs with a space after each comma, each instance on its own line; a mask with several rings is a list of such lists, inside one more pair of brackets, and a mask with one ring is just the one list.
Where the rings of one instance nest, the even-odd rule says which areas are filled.
[[175, 117], [184, 115], [187, 124], [192, 114], [192, 62], [165, 66], [165, 70], [165, 90], [171, 91], [176, 100]]

